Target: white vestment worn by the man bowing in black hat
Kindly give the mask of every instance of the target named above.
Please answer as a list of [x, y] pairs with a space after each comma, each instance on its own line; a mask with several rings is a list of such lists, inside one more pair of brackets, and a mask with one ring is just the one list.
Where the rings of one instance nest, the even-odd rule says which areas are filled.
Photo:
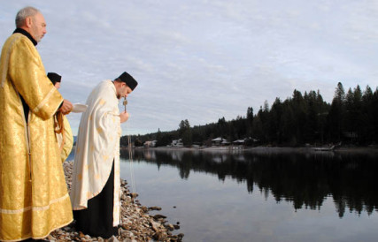
[[120, 110], [111, 80], [99, 83], [81, 116], [73, 163], [73, 210], [88, 208], [88, 200], [104, 188], [114, 161], [113, 226], [120, 224]]

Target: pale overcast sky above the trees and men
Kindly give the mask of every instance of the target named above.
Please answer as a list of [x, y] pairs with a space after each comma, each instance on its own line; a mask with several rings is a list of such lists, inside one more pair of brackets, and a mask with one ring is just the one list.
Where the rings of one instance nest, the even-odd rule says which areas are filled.
[[[331, 102], [345, 90], [378, 86], [378, 1], [0, 0], [0, 42], [17, 11], [42, 11], [37, 45], [62, 95], [85, 103], [104, 79], [129, 72], [123, 134], [171, 131], [258, 112], [301, 91]], [[121, 106], [120, 106], [121, 109]], [[76, 135], [79, 114], [67, 116]]]

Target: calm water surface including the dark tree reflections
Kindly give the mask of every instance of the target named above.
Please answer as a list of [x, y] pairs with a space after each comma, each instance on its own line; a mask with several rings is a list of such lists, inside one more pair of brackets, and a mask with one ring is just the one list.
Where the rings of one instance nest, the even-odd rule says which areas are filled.
[[[184, 241], [378, 241], [378, 155], [135, 150], [121, 177]], [[152, 214], [152, 213], [151, 213]]]

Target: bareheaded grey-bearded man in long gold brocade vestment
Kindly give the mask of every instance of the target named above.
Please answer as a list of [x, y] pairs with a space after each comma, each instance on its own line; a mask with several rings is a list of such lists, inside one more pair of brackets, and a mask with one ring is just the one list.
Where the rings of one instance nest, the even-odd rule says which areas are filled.
[[0, 59], [0, 240], [45, 238], [73, 221], [53, 115], [69, 113], [35, 45], [42, 13], [20, 10]]

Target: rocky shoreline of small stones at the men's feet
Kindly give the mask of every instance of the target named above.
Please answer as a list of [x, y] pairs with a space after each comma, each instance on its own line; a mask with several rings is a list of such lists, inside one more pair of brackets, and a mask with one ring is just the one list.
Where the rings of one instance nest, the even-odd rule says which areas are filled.
[[[63, 164], [66, 174], [68, 191], [71, 191], [73, 163], [65, 162]], [[90, 237], [76, 231], [74, 222], [66, 227], [52, 231], [47, 238], [48, 241], [181, 241], [183, 234], [174, 235], [174, 230], [180, 229], [179, 224], [167, 223], [166, 216], [148, 215], [151, 210], [160, 210], [161, 208], [146, 208], [138, 200], [135, 200], [137, 194], [130, 193], [127, 188], [127, 182], [121, 180], [121, 224], [119, 227], [119, 236], [112, 238]]]

